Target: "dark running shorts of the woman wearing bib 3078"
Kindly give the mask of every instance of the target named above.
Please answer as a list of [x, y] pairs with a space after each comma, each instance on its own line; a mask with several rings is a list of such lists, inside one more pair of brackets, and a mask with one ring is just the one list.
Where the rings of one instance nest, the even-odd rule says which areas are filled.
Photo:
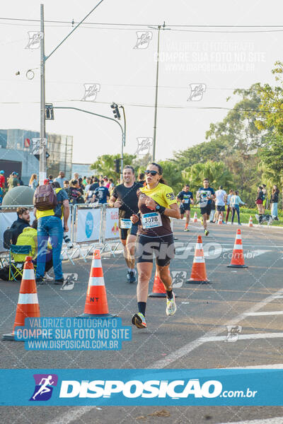
[[135, 258], [137, 264], [141, 262], [153, 262], [156, 257], [158, 266], [170, 264], [171, 259], [175, 257], [175, 246], [173, 234], [162, 235], [160, 237], [146, 237], [139, 234], [137, 236], [137, 245]]

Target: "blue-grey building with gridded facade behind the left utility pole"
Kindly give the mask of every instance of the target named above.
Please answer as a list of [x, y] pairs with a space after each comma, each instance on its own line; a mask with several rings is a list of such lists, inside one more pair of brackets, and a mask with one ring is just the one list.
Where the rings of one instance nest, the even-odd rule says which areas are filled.
[[[30, 176], [39, 172], [39, 160], [33, 155], [33, 139], [39, 139], [40, 133], [25, 129], [0, 129], [0, 170], [5, 171], [5, 177], [16, 171], [28, 184]], [[73, 156], [73, 137], [57, 134], [47, 134], [47, 176], [57, 177], [59, 171], [64, 171], [67, 178], [71, 177]]]

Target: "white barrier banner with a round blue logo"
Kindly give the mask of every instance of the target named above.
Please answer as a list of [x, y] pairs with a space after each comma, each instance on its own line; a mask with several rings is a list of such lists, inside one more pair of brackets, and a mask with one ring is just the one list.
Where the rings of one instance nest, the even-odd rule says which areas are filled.
[[76, 242], [99, 240], [101, 209], [77, 209]]

